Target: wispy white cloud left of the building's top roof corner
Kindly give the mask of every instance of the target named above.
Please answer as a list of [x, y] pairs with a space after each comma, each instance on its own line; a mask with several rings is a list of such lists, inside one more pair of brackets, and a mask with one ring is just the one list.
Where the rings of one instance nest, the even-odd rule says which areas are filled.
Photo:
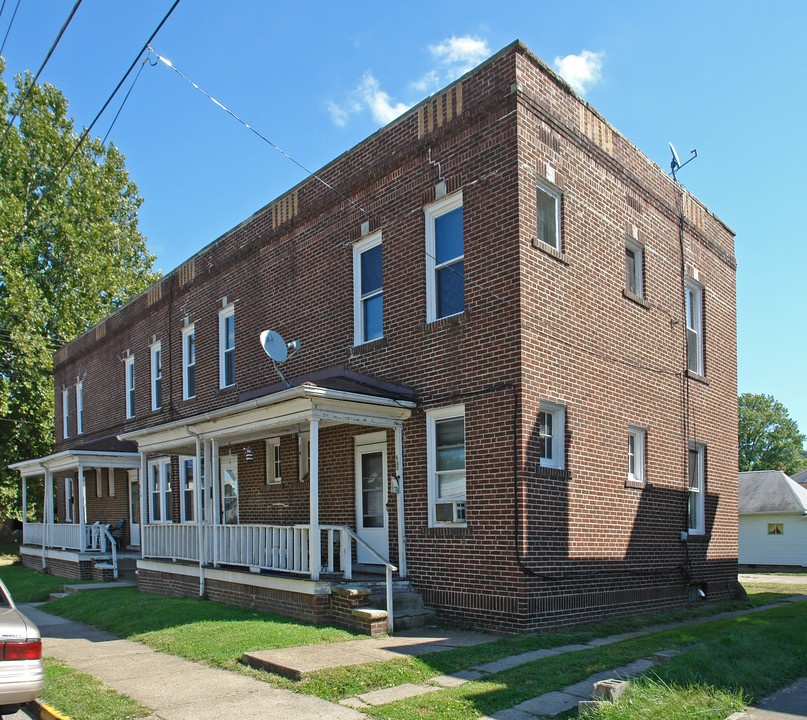
[[452, 35], [437, 45], [430, 45], [429, 52], [435, 67], [409, 83], [409, 91], [417, 95], [411, 103], [394, 102], [389, 93], [381, 89], [381, 83], [372, 71], [368, 70], [343, 103], [328, 103], [328, 114], [333, 123], [342, 127], [351, 116], [369, 111], [374, 120], [386, 125], [406, 112], [424, 94], [435, 92], [485, 60], [490, 55], [490, 48], [481, 38]]

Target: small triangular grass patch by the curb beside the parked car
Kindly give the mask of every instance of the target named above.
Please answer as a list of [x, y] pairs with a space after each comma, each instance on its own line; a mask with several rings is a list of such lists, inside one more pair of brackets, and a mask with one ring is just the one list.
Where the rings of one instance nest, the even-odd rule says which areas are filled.
[[45, 658], [41, 699], [63, 715], [81, 720], [129, 720], [152, 714], [149, 708], [110, 690], [92, 675], [54, 658]]

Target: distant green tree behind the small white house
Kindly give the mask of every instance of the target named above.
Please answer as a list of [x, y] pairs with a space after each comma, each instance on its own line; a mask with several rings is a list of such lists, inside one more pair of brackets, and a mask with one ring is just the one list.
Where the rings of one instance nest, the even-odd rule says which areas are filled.
[[739, 397], [739, 468], [783, 470], [788, 475], [807, 465], [804, 435], [782, 403], [770, 395], [743, 393]]

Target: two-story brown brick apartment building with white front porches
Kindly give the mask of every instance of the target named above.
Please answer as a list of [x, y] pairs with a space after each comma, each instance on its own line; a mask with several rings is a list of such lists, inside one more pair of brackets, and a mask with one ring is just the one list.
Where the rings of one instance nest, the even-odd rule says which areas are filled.
[[26, 564], [123, 521], [142, 589], [315, 621], [385, 568], [505, 632], [728, 597], [731, 229], [519, 42], [317, 175], [56, 353]]

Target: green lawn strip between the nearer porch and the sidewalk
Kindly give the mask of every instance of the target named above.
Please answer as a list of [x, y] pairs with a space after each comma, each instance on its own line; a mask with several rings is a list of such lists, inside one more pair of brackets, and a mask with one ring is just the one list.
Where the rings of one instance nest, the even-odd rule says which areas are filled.
[[252, 650], [356, 638], [334, 627], [134, 588], [76, 593], [52, 600], [42, 609], [155, 650], [228, 669], [238, 667], [242, 653]]

